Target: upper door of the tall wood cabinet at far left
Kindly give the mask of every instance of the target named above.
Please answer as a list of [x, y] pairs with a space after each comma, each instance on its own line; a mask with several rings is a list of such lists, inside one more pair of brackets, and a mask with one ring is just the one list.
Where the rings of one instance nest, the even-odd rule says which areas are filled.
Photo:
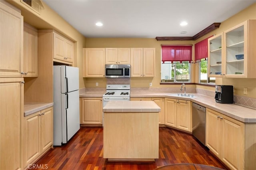
[[0, 1], [0, 16], [0, 77], [22, 77], [23, 16], [5, 1]]

